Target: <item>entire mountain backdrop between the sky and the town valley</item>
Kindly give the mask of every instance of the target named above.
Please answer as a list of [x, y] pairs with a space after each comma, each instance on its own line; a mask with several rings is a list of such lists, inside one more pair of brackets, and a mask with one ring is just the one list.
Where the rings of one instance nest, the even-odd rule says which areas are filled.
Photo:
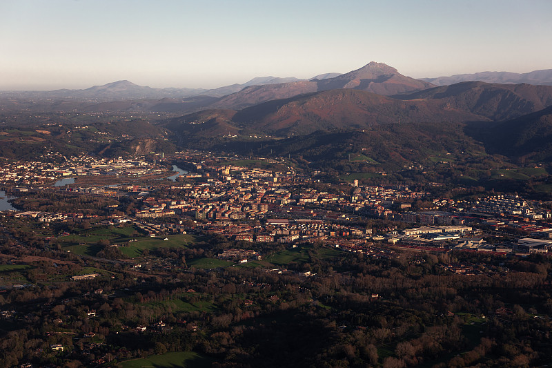
[[[445, 77], [422, 81], [372, 61], [342, 75], [259, 77], [214, 90], [117, 81], [85, 90], [2, 93], [0, 113], [164, 113], [172, 118], [159, 115], [152, 123], [172, 131], [179, 146], [260, 155], [274, 150], [320, 165], [330, 157], [342, 162], [353, 152], [402, 167], [466, 150], [473, 157], [496, 153], [552, 162], [552, 70], [448, 78], [478, 77], [493, 83], [435, 86]], [[520, 78], [524, 83], [514, 84]], [[544, 85], [547, 80], [551, 85]]]

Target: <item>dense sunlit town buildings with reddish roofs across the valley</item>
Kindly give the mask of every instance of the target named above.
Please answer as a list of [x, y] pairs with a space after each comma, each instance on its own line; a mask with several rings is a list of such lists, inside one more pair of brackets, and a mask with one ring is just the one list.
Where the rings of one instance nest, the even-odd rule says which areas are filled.
[[[475, 202], [436, 199], [425, 202], [423, 210], [413, 211], [427, 195], [411, 191], [407, 186], [328, 186], [316, 177], [298, 174], [292, 167], [273, 160], [280, 171], [248, 168], [233, 164], [232, 159], [183, 155], [179, 162], [193, 173], [181, 171], [173, 181], [161, 180], [158, 185], [108, 185], [94, 187], [66, 186], [65, 191], [111, 197], [133, 196], [139, 208], [126, 216], [113, 219], [134, 221], [145, 226], [152, 235], [163, 232], [188, 231], [182, 220], [193, 219], [196, 230], [224, 235], [244, 242], [324, 242], [351, 251], [366, 251], [368, 241], [393, 246], [413, 246], [417, 249], [471, 249], [533, 253], [548, 251], [547, 244], [524, 246], [521, 238], [552, 239], [552, 227], [546, 220], [551, 211], [536, 202], [517, 195], [495, 195]], [[148, 175], [166, 172], [159, 162], [146, 159], [101, 159], [82, 155], [66, 157], [65, 165], [11, 164], [1, 170], [27, 171], [33, 175]], [[178, 175], [176, 175], [178, 176]], [[4, 181], [10, 177], [6, 175]], [[52, 176], [48, 176], [49, 178]], [[36, 180], [36, 177], [34, 177]], [[151, 182], [150, 182], [151, 183]], [[113, 205], [116, 209], [117, 205]], [[64, 220], [69, 214], [19, 213], [19, 216], [38, 217], [50, 222]], [[115, 219], [115, 217], [117, 217]], [[413, 229], [372, 229], [356, 226], [361, 217], [406, 222]], [[163, 218], [170, 218], [161, 229]], [[156, 220], [157, 219], [157, 220]], [[160, 220], [161, 219], [161, 220]], [[544, 221], [543, 221], [544, 220]], [[152, 222], [155, 222], [153, 224]], [[150, 224], [150, 225], [146, 225]], [[422, 225], [422, 227], [415, 227]], [[148, 227], [149, 226], [149, 227]], [[175, 227], [176, 226], [176, 227]], [[192, 230], [192, 229], [190, 229]], [[513, 240], [507, 244], [488, 244], [489, 231], [509, 233]], [[421, 247], [421, 248], [420, 248]]]

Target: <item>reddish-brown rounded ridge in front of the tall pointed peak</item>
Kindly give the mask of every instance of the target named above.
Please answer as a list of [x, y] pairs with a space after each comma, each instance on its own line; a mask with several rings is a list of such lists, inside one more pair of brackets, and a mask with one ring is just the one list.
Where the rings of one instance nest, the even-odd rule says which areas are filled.
[[464, 82], [394, 98], [342, 88], [273, 99], [240, 110], [200, 111], [172, 119], [168, 128], [181, 133], [186, 130], [186, 135], [248, 130], [285, 137], [321, 129], [369, 129], [381, 124], [500, 122], [550, 105], [552, 86]]

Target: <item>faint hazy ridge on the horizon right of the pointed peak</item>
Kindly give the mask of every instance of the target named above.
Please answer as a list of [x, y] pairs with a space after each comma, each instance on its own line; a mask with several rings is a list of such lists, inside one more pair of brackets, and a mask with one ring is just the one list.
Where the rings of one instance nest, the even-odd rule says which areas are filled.
[[552, 69], [535, 70], [533, 72], [477, 72], [475, 74], [458, 74], [450, 77], [421, 78], [420, 80], [435, 86], [449, 86], [462, 81], [484, 81], [500, 84], [533, 84], [552, 85]]

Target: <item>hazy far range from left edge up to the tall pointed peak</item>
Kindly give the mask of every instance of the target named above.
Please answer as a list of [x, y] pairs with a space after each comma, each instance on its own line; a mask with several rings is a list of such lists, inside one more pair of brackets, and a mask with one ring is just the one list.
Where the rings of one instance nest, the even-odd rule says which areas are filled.
[[[39, 106], [43, 106], [43, 111], [143, 111], [185, 114], [206, 108], [241, 109], [274, 99], [332, 89], [366, 90], [380, 95], [395, 95], [431, 87], [432, 84], [405, 77], [391, 66], [372, 61], [343, 75], [326, 73], [310, 80], [259, 77], [245, 84], [233, 84], [213, 90], [150, 88], [138, 86], [130, 81], [116, 81], [84, 90], [2, 93], [0, 98], [6, 97], [8, 100], [1, 104], [3, 106], [0, 108], [10, 110], [12, 105], [15, 110], [19, 110], [30, 99], [41, 99]], [[33, 101], [33, 104], [35, 103], [36, 101]]]

